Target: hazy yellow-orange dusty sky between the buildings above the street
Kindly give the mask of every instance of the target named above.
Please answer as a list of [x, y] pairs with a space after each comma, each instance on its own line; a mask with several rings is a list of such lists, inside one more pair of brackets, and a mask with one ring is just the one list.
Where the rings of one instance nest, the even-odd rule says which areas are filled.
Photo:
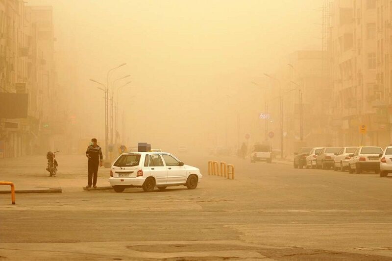
[[[86, 97], [100, 104], [103, 94], [89, 79], [106, 83], [108, 69], [127, 63], [112, 79], [132, 75], [128, 78], [132, 84], [119, 99], [127, 121], [124, 142], [132, 144], [191, 146], [206, 138], [219, 145], [225, 143], [221, 130], [228, 125], [234, 126], [228, 131], [228, 143], [235, 146], [238, 117], [241, 142], [255, 125], [251, 122], [255, 115], [249, 115], [252, 110], [246, 104], [259, 102], [255, 96], [261, 93], [250, 82], [264, 72], [273, 73], [279, 59], [290, 52], [321, 46], [321, 12], [316, 9], [322, 0], [29, 0], [28, 4], [53, 6], [56, 47], [69, 54], [64, 59], [75, 66], [79, 104]], [[69, 77], [62, 70], [60, 81]], [[78, 106], [78, 119], [89, 123], [81, 135], [102, 139], [103, 105], [98, 111]]]

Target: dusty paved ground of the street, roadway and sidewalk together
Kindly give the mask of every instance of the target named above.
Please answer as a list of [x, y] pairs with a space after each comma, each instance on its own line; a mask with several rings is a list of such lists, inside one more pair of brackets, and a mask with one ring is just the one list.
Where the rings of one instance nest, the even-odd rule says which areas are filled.
[[45, 156], [0, 160], [17, 188], [64, 191], [0, 194], [0, 259], [392, 260], [392, 178], [222, 158], [232, 181], [181, 159], [204, 173], [196, 190], [83, 191], [83, 156], [59, 155], [55, 178]]

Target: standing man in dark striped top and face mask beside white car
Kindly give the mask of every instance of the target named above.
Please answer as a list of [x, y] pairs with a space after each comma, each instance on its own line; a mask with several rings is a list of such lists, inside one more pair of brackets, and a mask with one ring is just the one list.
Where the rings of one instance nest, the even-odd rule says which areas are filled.
[[[87, 147], [86, 157], [89, 158], [88, 173], [89, 179], [86, 188], [97, 188], [98, 166], [102, 166], [102, 149], [97, 144], [97, 139], [91, 139], [90, 146]], [[94, 180], [93, 180], [94, 175]]]

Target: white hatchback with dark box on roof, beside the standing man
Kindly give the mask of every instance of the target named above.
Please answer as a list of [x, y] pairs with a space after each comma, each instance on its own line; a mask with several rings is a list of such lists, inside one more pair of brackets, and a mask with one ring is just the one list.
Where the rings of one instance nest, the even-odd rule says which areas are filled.
[[198, 168], [184, 165], [170, 153], [135, 152], [117, 158], [110, 169], [109, 182], [116, 192], [133, 187], [151, 192], [155, 187], [165, 190], [170, 186], [194, 190], [201, 177]]

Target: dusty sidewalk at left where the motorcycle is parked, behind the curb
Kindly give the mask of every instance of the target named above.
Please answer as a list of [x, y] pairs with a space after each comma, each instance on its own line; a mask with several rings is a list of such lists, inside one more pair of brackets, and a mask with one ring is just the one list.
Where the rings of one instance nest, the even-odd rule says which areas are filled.
[[[61, 188], [62, 192], [82, 191], [87, 186], [87, 159], [84, 155], [56, 154], [58, 171], [49, 177], [46, 156], [26, 156], [0, 159], [0, 180], [10, 181], [15, 190], [49, 190]], [[109, 169], [98, 169], [98, 187], [110, 186]], [[0, 191], [9, 191], [10, 186], [0, 186]]]

